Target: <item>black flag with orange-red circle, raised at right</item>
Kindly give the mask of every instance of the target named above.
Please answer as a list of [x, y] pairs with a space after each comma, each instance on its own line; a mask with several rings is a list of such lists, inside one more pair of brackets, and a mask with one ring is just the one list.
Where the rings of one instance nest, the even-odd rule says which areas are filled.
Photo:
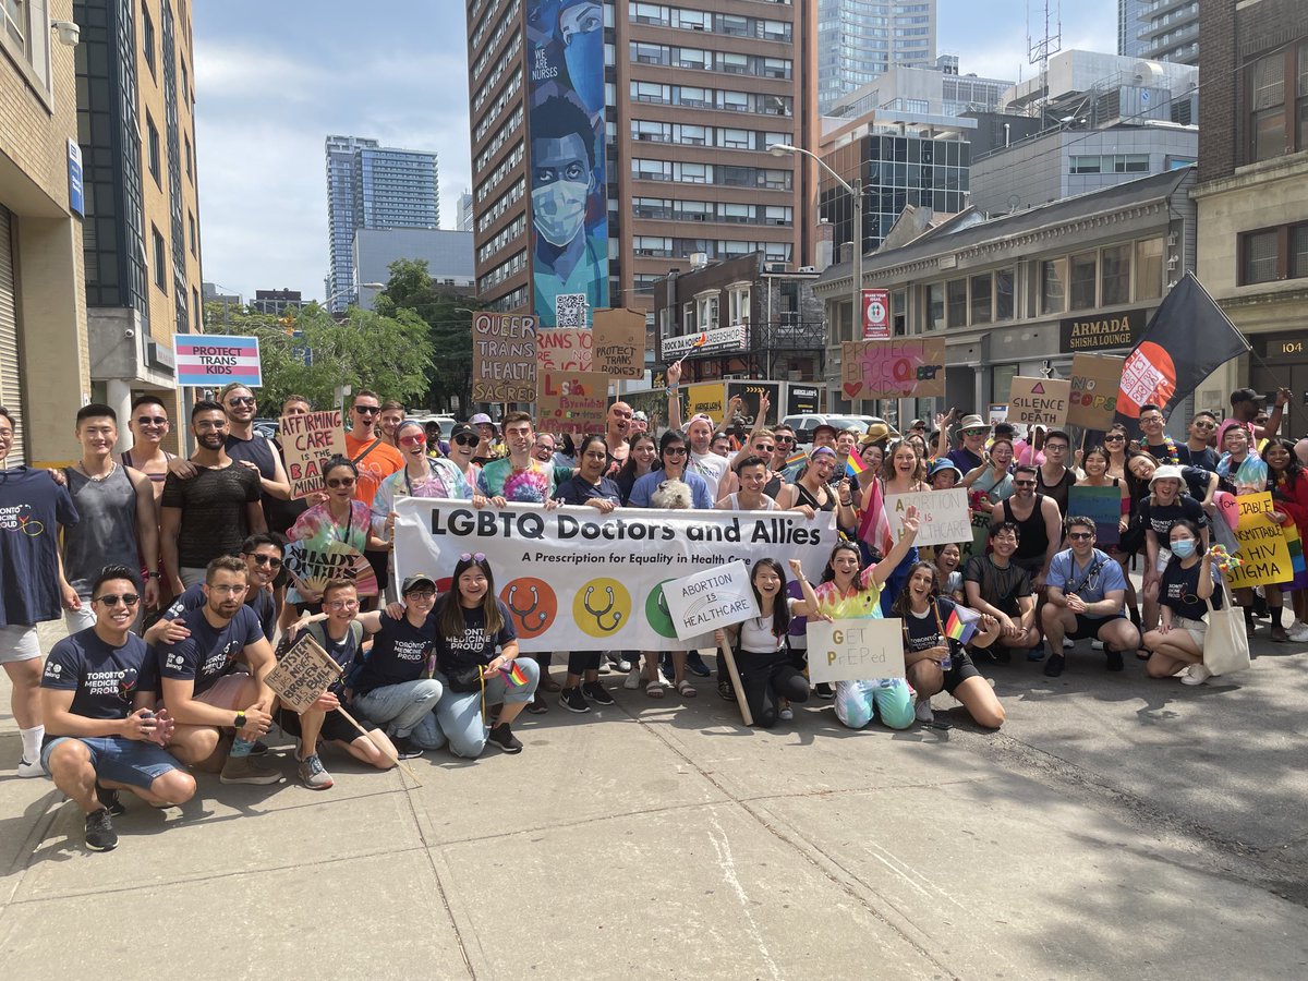
[[1141, 405], [1148, 403], [1169, 416], [1199, 382], [1247, 351], [1249, 341], [1194, 273], [1186, 272], [1126, 356], [1117, 420], [1134, 432]]

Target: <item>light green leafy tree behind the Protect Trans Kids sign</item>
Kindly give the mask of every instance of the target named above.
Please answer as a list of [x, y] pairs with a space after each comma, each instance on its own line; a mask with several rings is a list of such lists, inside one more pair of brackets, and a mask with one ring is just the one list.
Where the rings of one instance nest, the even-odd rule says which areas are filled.
[[432, 341], [411, 310], [383, 317], [352, 306], [337, 323], [317, 303], [281, 318], [211, 303], [205, 331], [259, 337], [259, 402], [266, 415], [277, 415], [293, 392], [315, 408], [335, 408], [343, 386], [374, 388], [383, 399], [405, 403], [428, 387]]

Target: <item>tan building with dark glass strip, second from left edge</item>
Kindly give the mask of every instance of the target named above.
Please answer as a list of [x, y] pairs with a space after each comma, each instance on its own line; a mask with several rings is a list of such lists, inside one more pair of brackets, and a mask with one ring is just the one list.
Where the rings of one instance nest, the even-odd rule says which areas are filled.
[[203, 330], [191, 10], [77, 0], [73, 17], [92, 395], [120, 419], [133, 395], [161, 395], [177, 436], [173, 336]]

